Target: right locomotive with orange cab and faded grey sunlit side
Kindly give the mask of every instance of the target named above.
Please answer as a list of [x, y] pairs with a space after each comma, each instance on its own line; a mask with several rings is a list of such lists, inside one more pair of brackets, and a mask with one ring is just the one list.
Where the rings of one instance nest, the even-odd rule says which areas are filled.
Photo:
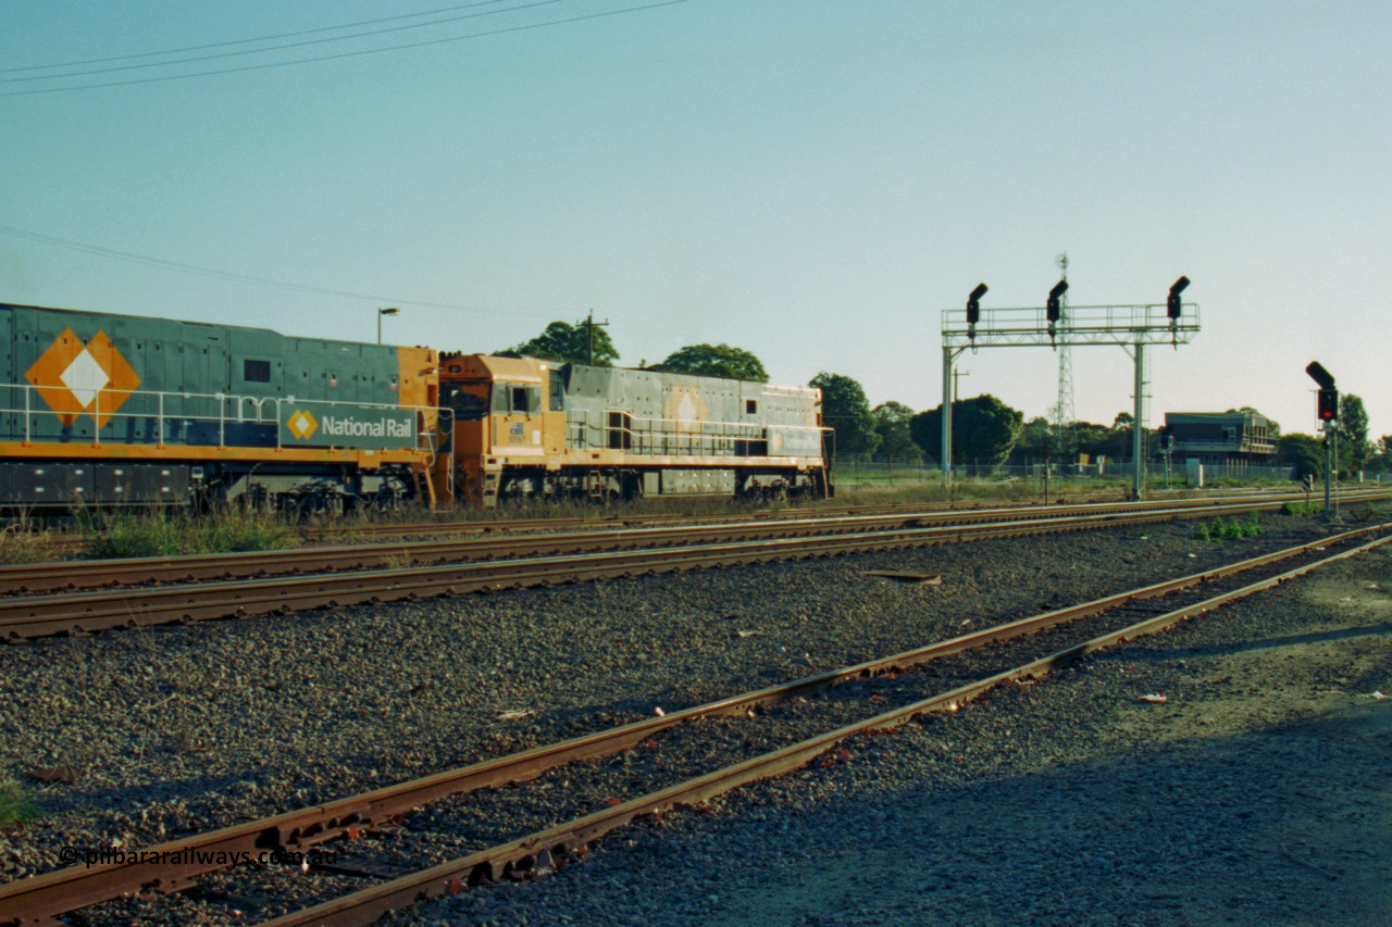
[[450, 358], [445, 380], [457, 412], [487, 398], [454, 430], [458, 482], [484, 505], [830, 493], [813, 388], [486, 355]]

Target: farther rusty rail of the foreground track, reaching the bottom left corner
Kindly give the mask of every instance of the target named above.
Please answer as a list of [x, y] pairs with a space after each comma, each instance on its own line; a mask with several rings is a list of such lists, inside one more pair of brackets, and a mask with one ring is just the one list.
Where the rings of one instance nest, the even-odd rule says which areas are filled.
[[[1214, 569], [1164, 580], [1093, 601], [1022, 618], [1005, 625], [952, 637], [903, 653], [830, 670], [803, 679], [742, 695], [718, 699], [664, 717], [646, 718], [617, 728], [544, 745], [504, 757], [484, 760], [457, 770], [384, 786], [362, 795], [285, 811], [263, 820], [198, 834], [148, 848], [150, 862], [132, 864], [99, 863], [72, 866], [0, 885], [0, 927], [38, 924], [60, 914], [146, 888], [177, 891], [191, 878], [226, 864], [210, 860], [209, 853], [256, 850], [303, 850], [354, 831], [372, 830], [430, 802], [464, 795], [480, 788], [523, 782], [576, 760], [601, 757], [631, 749], [649, 736], [696, 718], [742, 715], [760, 707], [807, 695], [827, 686], [866, 676], [905, 670], [941, 657], [990, 643], [1012, 640], [1080, 618], [1087, 618], [1129, 603], [1155, 599], [1201, 586], [1219, 578], [1288, 560], [1307, 551], [1336, 546], [1360, 534], [1389, 526], [1364, 528], [1320, 539]], [[180, 859], [178, 864], [156, 859]]]

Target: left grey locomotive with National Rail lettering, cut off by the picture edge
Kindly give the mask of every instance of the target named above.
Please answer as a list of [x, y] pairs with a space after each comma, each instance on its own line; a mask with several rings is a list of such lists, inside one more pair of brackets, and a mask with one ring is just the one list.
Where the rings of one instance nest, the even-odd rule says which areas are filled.
[[[187, 484], [212, 483], [334, 496], [376, 491], [380, 476], [400, 494], [434, 464], [437, 443], [422, 436], [434, 409], [401, 408], [434, 401], [426, 348], [38, 306], [0, 306], [0, 326], [6, 501], [46, 502], [71, 480], [100, 501], [182, 498]], [[310, 408], [316, 393], [326, 405]], [[21, 461], [29, 469], [14, 469]]]

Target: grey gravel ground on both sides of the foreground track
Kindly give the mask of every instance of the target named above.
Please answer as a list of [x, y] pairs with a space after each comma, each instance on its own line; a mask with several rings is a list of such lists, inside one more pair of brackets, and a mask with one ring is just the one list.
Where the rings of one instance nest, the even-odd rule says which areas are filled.
[[[1265, 525], [1240, 547], [1180, 523], [0, 649], [0, 770], [65, 766], [74, 779], [39, 788], [45, 817], [0, 837], [0, 870], [697, 704], [1318, 530]], [[859, 743], [846, 763], [725, 799], [718, 817], [671, 816], [550, 880], [409, 917], [1389, 923], [1382, 880], [1359, 881], [1392, 871], [1386, 703], [1359, 697], [1392, 695], [1389, 610], [1368, 589], [1388, 562], [1360, 558], [1338, 568], [1342, 586], [1302, 580], [1265, 607]], [[1137, 703], [1140, 689], [1171, 700]], [[536, 714], [501, 720], [518, 710]]]

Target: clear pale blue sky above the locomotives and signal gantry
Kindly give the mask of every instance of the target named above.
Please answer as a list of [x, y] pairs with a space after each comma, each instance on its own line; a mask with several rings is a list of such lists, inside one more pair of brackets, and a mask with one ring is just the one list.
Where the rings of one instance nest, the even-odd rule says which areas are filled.
[[[593, 309], [619, 363], [728, 342], [923, 409], [941, 312], [1041, 305], [1068, 252], [1073, 305], [1193, 280], [1153, 425], [1310, 431], [1318, 359], [1392, 431], [1385, 1], [437, 3], [0, 4], [0, 301], [365, 341], [395, 305], [461, 351]], [[1057, 365], [967, 354], [962, 397], [1044, 415]], [[1073, 366], [1079, 419], [1130, 409], [1121, 348]]]

